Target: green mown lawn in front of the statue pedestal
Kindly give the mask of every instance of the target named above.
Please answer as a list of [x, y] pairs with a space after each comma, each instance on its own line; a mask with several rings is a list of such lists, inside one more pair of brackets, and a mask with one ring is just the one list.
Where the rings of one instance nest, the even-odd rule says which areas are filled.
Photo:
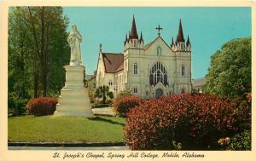
[[33, 117], [8, 118], [11, 142], [122, 142], [125, 118]]

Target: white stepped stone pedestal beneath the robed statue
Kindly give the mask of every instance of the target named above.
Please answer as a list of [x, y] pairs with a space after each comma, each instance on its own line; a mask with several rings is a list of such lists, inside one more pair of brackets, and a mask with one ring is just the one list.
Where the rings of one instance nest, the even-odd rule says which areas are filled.
[[55, 116], [93, 117], [87, 89], [84, 88], [84, 66], [64, 66], [66, 82], [61, 89]]

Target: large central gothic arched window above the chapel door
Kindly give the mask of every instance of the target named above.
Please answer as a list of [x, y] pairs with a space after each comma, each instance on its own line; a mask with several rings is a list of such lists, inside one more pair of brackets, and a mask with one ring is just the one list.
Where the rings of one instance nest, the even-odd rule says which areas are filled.
[[155, 85], [159, 82], [163, 83], [164, 85], [168, 84], [166, 68], [159, 61], [157, 61], [150, 70], [149, 84]]

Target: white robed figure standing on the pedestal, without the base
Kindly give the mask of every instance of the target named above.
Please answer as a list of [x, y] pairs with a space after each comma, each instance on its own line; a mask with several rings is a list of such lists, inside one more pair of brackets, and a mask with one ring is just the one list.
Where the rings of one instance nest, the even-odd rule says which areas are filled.
[[71, 49], [70, 66], [79, 66], [82, 62], [80, 43], [82, 42], [82, 36], [77, 29], [77, 26], [72, 26], [72, 31], [67, 37]]

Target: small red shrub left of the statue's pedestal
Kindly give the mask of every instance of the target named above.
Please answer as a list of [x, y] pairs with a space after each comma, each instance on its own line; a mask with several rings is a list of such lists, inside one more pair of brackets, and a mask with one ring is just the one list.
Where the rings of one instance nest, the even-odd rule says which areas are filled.
[[26, 109], [34, 116], [52, 115], [56, 110], [58, 101], [55, 98], [41, 97], [27, 102]]

